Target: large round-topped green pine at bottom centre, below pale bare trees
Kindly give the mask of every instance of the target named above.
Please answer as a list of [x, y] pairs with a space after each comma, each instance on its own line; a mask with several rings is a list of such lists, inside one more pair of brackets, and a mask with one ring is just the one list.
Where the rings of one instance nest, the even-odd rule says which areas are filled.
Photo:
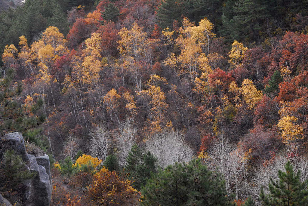
[[148, 180], [142, 205], [233, 205], [225, 183], [200, 160], [170, 165]]

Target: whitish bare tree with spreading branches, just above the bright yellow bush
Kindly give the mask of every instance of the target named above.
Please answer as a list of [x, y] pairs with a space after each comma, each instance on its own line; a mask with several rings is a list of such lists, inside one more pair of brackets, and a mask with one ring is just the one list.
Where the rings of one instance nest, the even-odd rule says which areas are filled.
[[93, 157], [97, 157], [99, 160], [104, 161], [113, 146], [113, 140], [105, 126], [99, 125], [94, 130], [90, 131], [88, 149]]

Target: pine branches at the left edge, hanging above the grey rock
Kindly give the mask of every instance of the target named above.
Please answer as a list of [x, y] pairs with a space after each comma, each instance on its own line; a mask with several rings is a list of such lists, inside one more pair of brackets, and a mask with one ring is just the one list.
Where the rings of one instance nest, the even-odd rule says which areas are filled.
[[31, 108], [24, 111], [21, 84], [12, 86], [14, 70], [8, 69], [5, 76], [0, 79], [0, 134], [4, 132], [22, 132], [29, 128], [37, 127], [45, 119], [43, 114], [35, 115], [43, 105], [39, 99]]

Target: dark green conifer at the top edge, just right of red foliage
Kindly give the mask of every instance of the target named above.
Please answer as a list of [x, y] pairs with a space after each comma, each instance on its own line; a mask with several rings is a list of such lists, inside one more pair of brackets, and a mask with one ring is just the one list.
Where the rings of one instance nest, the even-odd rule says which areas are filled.
[[162, 29], [170, 28], [174, 20], [181, 22], [181, 1], [177, 0], [162, 0], [156, 9], [156, 23]]

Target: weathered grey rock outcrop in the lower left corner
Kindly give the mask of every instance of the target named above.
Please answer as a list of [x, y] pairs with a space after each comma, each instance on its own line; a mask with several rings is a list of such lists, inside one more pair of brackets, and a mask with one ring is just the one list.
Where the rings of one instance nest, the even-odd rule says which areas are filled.
[[[23, 137], [20, 133], [10, 133], [0, 137], [1, 151], [11, 149], [22, 157], [27, 164], [27, 169], [36, 175], [25, 182], [26, 190], [23, 192], [27, 206], [50, 205], [52, 181], [50, 174], [49, 157], [42, 152], [27, 154]], [[0, 154], [2, 156], [2, 154]], [[0, 195], [0, 205], [11, 205]]]

